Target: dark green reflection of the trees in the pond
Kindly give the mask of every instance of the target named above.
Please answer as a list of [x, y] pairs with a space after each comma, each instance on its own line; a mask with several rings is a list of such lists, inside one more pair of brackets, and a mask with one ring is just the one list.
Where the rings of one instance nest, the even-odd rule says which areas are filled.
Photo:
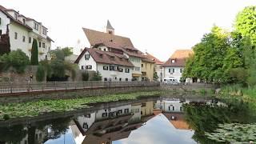
[[198, 102], [184, 104], [184, 112], [186, 122], [194, 130], [194, 140], [202, 144], [218, 143], [206, 138], [205, 132], [213, 132], [220, 123], [250, 123], [256, 119], [249, 104], [237, 100], [228, 101], [222, 106]]

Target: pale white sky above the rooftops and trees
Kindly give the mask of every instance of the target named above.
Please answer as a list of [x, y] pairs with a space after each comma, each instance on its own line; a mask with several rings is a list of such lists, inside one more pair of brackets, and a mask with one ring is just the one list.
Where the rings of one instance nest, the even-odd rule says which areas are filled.
[[212, 26], [232, 30], [234, 19], [256, 0], [0, 0], [0, 5], [34, 18], [48, 28], [57, 46], [90, 46], [82, 27], [103, 31], [107, 19], [115, 34], [142, 52], [166, 61], [178, 49], [191, 49]]

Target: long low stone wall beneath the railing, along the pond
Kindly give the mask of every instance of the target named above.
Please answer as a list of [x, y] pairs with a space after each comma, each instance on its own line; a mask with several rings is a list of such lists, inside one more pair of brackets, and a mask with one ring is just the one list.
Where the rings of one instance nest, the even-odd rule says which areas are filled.
[[159, 86], [125, 86], [125, 87], [106, 87], [86, 90], [62, 90], [62, 91], [46, 91], [41, 93], [30, 94], [13, 94], [0, 97], [0, 104], [7, 102], [31, 102], [46, 99], [67, 99], [67, 98], [83, 98], [89, 96], [98, 96], [106, 94], [123, 94], [137, 91], [159, 90]]

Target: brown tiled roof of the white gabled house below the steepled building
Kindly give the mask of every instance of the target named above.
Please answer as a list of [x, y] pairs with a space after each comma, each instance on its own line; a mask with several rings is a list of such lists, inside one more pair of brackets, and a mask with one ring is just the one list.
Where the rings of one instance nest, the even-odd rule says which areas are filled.
[[[91, 57], [94, 58], [94, 61], [98, 63], [107, 63], [107, 64], [113, 64], [113, 65], [119, 65], [119, 66], [131, 66], [131, 67], [134, 66], [129, 61], [129, 59], [126, 58], [126, 56], [123, 54], [114, 54], [111, 52], [92, 49], [92, 48], [85, 48], [74, 63], [78, 63], [82, 58], [82, 56], [86, 53], [86, 51], [88, 51]], [[111, 57], [114, 58], [114, 60], [111, 60]]]

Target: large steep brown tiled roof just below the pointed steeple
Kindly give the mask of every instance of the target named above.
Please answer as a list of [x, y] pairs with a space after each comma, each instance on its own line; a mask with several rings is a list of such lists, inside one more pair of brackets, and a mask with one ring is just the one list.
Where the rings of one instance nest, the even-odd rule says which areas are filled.
[[114, 43], [115, 46], [122, 47], [122, 46], [129, 46], [134, 48], [133, 43], [130, 41], [130, 38], [122, 37], [119, 35], [114, 34], [107, 34], [96, 30], [90, 30], [86, 28], [82, 28], [88, 41], [90, 42], [91, 46], [94, 46], [98, 43]]

